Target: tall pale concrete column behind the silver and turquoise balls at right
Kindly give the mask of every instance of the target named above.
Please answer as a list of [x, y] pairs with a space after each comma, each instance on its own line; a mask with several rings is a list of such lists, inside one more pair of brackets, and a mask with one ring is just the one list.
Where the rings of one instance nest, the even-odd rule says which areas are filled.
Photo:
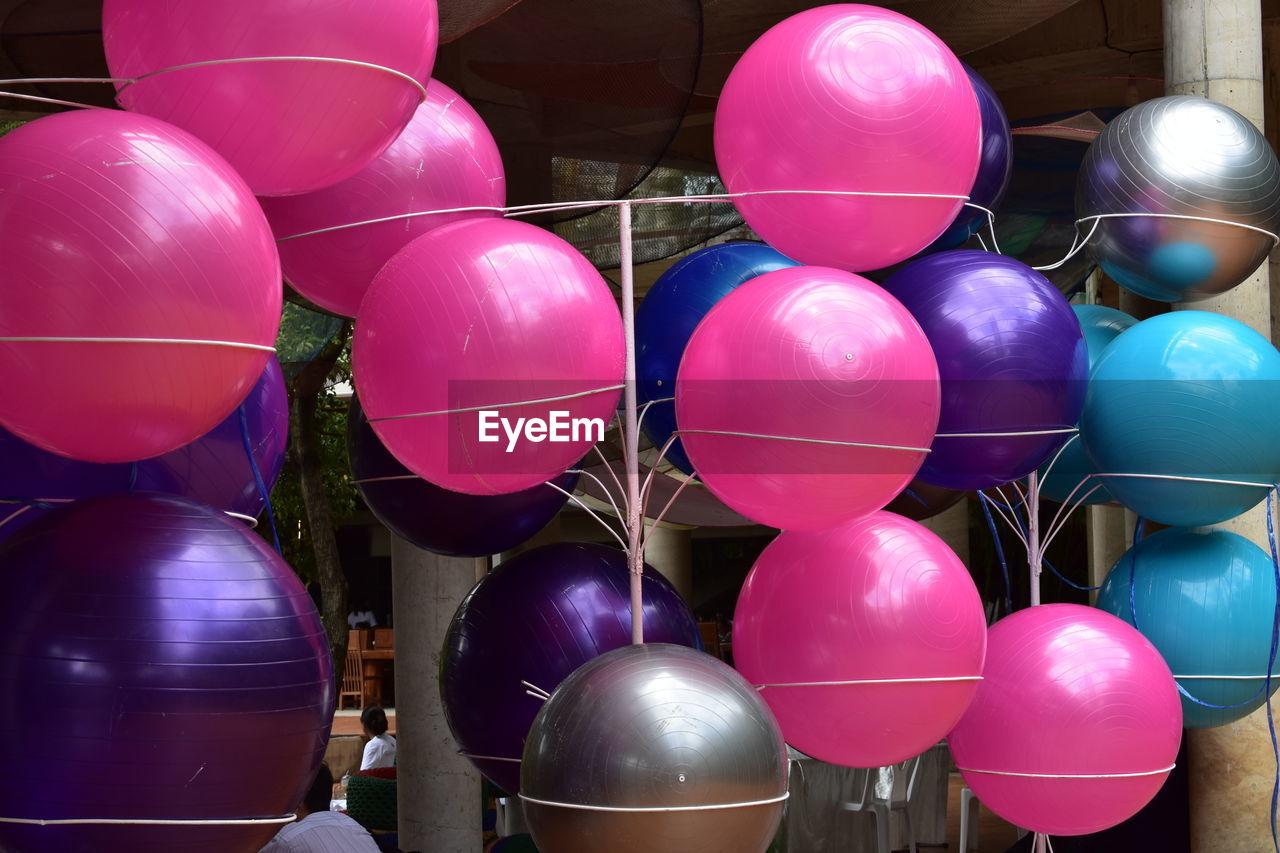
[[[1165, 91], [1201, 95], [1263, 127], [1260, 0], [1164, 0]], [[1176, 307], [1217, 311], [1271, 336], [1267, 264], [1222, 296]], [[1251, 512], [1229, 525], [1266, 547]], [[1189, 730], [1190, 829], [1194, 853], [1254, 853], [1270, 845], [1271, 740], [1266, 710], [1217, 729]]]

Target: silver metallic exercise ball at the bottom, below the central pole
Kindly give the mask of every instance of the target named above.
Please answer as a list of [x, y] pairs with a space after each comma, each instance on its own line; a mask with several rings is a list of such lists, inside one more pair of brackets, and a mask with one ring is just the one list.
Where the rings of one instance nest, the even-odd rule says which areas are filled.
[[543, 853], [763, 853], [787, 795], [782, 731], [710, 654], [627, 646], [538, 712], [520, 798]]

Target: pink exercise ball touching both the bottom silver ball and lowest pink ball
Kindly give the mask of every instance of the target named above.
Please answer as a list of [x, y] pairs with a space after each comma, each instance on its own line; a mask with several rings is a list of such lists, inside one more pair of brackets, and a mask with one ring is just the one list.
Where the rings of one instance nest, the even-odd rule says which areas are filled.
[[849, 767], [905, 761], [941, 740], [973, 698], [986, 648], [968, 569], [892, 512], [781, 533], [733, 613], [737, 670], [763, 688], [787, 743]]

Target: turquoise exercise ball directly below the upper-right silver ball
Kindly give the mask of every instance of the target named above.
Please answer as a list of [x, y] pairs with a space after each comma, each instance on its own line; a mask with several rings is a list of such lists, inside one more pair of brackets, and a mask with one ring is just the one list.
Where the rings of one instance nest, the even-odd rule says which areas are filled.
[[1093, 369], [1080, 420], [1089, 467], [1115, 500], [1160, 524], [1235, 517], [1280, 480], [1277, 380], [1280, 352], [1238, 320], [1204, 311], [1143, 320]]

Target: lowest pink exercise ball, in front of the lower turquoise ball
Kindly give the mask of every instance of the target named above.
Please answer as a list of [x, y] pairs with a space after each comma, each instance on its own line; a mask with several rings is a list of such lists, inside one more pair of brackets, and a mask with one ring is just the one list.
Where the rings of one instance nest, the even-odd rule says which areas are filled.
[[991, 811], [1084, 835], [1156, 795], [1181, 736], [1178, 685], [1146, 637], [1093, 607], [1041, 605], [992, 626], [983, 681], [947, 742]]

